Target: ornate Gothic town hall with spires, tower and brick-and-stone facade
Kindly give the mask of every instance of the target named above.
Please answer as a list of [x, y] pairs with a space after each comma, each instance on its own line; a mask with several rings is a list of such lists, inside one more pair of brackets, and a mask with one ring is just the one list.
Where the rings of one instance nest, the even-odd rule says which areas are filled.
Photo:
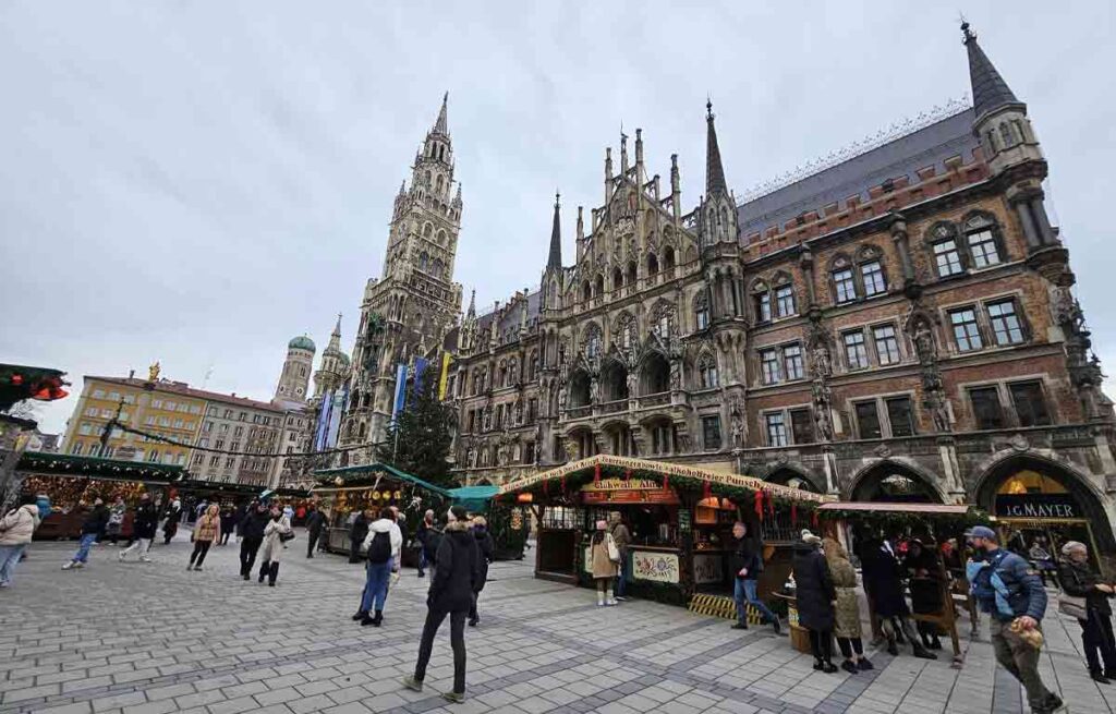
[[631, 153], [622, 136], [600, 205], [577, 210], [576, 254], [556, 201], [541, 288], [463, 318], [443, 103], [365, 292], [340, 443], [382, 438], [394, 365], [445, 350], [470, 484], [633, 455], [843, 500], [977, 503], [1116, 550], [1113, 408], [1047, 160], [962, 29], [971, 107], [743, 202], [712, 107], [689, 206], [677, 156], [663, 182], [641, 131]]

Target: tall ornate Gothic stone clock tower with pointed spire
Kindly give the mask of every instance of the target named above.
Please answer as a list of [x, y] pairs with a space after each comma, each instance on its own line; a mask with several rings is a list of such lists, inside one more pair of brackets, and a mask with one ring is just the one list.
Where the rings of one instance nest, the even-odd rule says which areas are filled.
[[[413, 374], [415, 358], [431, 359], [461, 312], [453, 266], [461, 231], [461, 184], [454, 181], [449, 93], [395, 196], [383, 274], [368, 280], [353, 348], [341, 445], [385, 438], [397, 367]], [[371, 460], [356, 453], [355, 459]]]

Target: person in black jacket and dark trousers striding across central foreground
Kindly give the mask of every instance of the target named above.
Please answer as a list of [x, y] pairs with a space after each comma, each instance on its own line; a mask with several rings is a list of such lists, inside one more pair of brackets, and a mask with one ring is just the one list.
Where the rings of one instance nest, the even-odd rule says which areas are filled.
[[[465, 509], [454, 505], [446, 517], [444, 537], [437, 547], [437, 566], [431, 571], [426, 596], [426, 621], [419, 643], [419, 659], [413, 675], [403, 678], [403, 686], [422, 692], [426, 665], [434, 649], [434, 636], [450, 617], [450, 645], [453, 647], [453, 691], [442, 695], [448, 702], [465, 701], [465, 616], [473, 601], [477, 578], [480, 577], [477, 538], [469, 532]], [[604, 521], [602, 521], [604, 523]]]

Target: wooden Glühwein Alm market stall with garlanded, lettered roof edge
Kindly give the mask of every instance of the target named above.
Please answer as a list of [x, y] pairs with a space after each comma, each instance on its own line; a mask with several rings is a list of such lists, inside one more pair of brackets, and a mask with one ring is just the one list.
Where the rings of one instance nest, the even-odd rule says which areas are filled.
[[728, 559], [732, 524], [763, 543], [762, 596], [790, 572], [790, 544], [816, 523], [826, 496], [761, 479], [600, 454], [500, 488], [500, 503], [528, 505], [537, 519], [538, 578], [589, 585], [594, 524], [618, 513], [632, 531], [624, 563], [628, 592], [677, 605], [718, 600], [731, 612]]

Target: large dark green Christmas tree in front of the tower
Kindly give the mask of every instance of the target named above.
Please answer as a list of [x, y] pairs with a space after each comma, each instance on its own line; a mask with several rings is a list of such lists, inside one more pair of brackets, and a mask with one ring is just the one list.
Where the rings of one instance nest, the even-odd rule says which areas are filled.
[[419, 388], [407, 389], [404, 408], [387, 428], [387, 440], [377, 447], [381, 463], [419, 476], [434, 485], [452, 489], [450, 444], [454, 412], [437, 398], [439, 369], [427, 366], [416, 377]]

